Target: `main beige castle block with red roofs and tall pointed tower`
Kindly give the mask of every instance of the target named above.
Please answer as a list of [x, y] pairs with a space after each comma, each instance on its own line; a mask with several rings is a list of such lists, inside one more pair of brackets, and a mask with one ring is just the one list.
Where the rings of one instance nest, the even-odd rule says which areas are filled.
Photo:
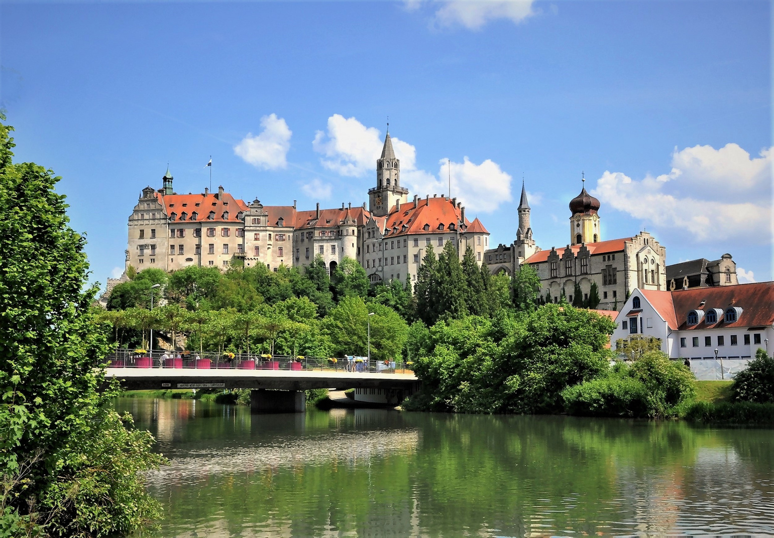
[[265, 206], [233, 197], [218, 187], [201, 194], [176, 194], [167, 169], [162, 187], [142, 190], [128, 218], [126, 267], [165, 271], [186, 266], [228, 268], [262, 263], [307, 266], [320, 256], [330, 272], [345, 256], [360, 262], [372, 283], [416, 280], [428, 245], [436, 251], [452, 242], [460, 257], [470, 246], [479, 263], [489, 232], [478, 218], [465, 218], [456, 198], [416, 194], [400, 185], [400, 162], [389, 132], [376, 161], [376, 186], [366, 204], [302, 211], [293, 205]]

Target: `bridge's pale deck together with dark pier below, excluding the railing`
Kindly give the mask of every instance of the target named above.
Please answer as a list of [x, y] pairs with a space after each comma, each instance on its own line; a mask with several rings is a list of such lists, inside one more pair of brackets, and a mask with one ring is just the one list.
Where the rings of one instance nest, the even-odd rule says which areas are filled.
[[413, 372], [347, 372], [343, 370], [265, 370], [201, 368], [108, 367], [108, 378], [125, 389], [253, 389], [252, 409], [300, 412], [306, 409], [303, 391], [309, 389], [369, 389], [385, 402], [402, 401], [418, 384]]

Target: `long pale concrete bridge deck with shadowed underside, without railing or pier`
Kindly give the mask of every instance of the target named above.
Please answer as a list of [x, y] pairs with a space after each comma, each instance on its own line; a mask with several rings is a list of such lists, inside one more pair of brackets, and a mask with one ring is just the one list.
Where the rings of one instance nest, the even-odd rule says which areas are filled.
[[197, 368], [107, 368], [128, 390], [156, 389], [409, 389], [413, 373], [320, 370], [242, 370]]

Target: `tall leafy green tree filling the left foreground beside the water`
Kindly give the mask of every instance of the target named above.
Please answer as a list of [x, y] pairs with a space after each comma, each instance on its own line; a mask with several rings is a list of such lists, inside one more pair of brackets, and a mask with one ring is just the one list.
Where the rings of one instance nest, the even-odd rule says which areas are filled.
[[108, 406], [116, 386], [97, 391], [109, 346], [84, 291], [85, 240], [59, 178], [12, 163], [10, 130], [0, 124], [0, 535], [129, 533], [159, 517], [142, 471], [163, 457]]

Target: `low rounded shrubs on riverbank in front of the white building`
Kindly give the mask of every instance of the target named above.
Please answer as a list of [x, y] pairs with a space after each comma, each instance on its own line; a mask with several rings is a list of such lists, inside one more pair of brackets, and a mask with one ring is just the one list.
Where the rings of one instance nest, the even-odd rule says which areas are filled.
[[661, 351], [648, 351], [632, 365], [615, 365], [608, 375], [562, 392], [573, 415], [652, 419], [678, 416], [694, 396], [690, 369]]

